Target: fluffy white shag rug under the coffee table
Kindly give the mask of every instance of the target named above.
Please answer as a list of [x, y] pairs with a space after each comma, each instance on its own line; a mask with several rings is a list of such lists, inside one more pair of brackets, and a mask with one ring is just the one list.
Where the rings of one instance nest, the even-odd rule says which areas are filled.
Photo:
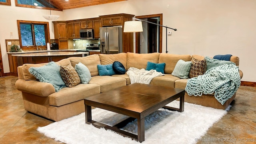
[[[179, 101], [167, 106], [179, 108]], [[214, 122], [227, 112], [196, 104], [184, 104], [184, 112], [159, 109], [145, 118], [145, 141], [143, 144], [195, 144], [196, 138], [206, 134]], [[92, 109], [92, 120], [113, 126], [127, 116]], [[127, 124], [123, 130], [137, 134], [137, 121]], [[38, 131], [66, 144], [139, 144], [136, 140], [104, 128], [96, 128], [85, 123], [85, 113], [54, 122]]]

